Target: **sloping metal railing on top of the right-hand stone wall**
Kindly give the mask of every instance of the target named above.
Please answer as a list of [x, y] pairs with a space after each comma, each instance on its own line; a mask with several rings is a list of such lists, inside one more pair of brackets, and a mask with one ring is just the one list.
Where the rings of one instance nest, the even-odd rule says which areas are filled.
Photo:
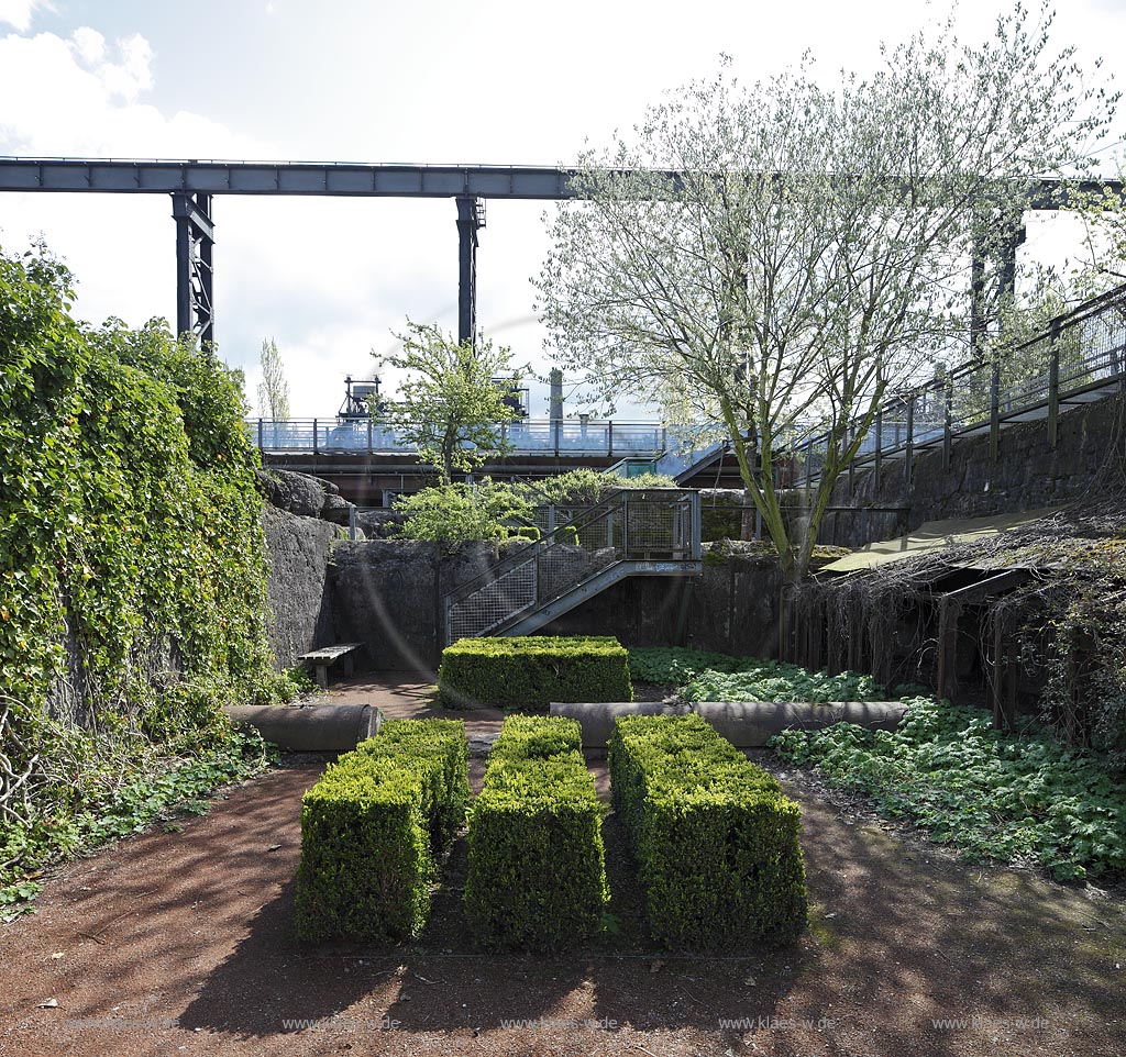
[[[850, 469], [902, 459], [910, 482], [920, 450], [941, 445], [948, 462], [955, 438], [986, 432], [995, 459], [1002, 429], [1037, 420], [1045, 421], [1054, 448], [1062, 410], [1123, 391], [1126, 285], [1057, 316], [1035, 338], [976, 357], [892, 397], [865, 430]], [[804, 481], [811, 486], [820, 480], [828, 439], [820, 433], [790, 449], [789, 484], [801, 486]]]

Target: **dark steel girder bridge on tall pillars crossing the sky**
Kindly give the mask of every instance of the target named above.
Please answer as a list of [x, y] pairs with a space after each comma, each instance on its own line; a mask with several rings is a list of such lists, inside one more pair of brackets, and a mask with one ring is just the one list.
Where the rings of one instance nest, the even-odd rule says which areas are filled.
[[[476, 253], [488, 199], [564, 201], [582, 198], [577, 170], [536, 165], [403, 165], [254, 161], [138, 161], [75, 158], [0, 158], [0, 191], [54, 194], [170, 195], [176, 221], [176, 329], [202, 343], [215, 341], [215, 223], [221, 195], [314, 195], [341, 198], [452, 198], [457, 206], [459, 341], [476, 337]], [[673, 180], [676, 172], [668, 173]], [[1087, 182], [1081, 190], [1118, 181]], [[1037, 182], [1028, 209], [1067, 207], [1056, 180]], [[1021, 217], [1004, 240], [1000, 285], [1012, 286]], [[984, 261], [973, 262], [975, 290], [984, 284]], [[978, 316], [972, 329], [980, 331]]]

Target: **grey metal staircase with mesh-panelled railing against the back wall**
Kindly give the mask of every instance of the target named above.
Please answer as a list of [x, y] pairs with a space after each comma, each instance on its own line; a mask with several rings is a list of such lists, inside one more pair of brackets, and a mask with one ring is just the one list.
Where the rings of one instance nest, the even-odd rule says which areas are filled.
[[528, 635], [626, 576], [692, 576], [699, 493], [623, 489], [445, 598], [446, 644]]

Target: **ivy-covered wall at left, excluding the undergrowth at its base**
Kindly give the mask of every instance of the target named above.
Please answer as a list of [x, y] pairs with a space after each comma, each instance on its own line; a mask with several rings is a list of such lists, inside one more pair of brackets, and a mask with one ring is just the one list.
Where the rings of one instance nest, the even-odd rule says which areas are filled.
[[0, 688], [79, 723], [205, 719], [188, 698], [272, 671], [241, 376], [162, 321], [83, 329], [70, 297], [48, 257], [0, 258]]

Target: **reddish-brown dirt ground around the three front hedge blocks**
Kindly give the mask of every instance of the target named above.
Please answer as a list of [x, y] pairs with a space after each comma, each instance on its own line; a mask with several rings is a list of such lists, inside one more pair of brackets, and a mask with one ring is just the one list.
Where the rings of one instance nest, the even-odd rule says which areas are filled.
[[[474, 717], [477, 734], [497, 726]], [[477, 951], [463, 840], [415, 942], [302, 946], [298, 809], [323, 761], [294, 756], [180, 832], [70, 863], [36, 915], [0, 928], [0, 1054], [1126, 1051], [1120, 892], [960, 863], [759, 759], [803, 810], [812, 926], [790, 947], [656, 950], [613, 815], [616, 934], [553, 957]], [[605, 795], [605, 763], [591, 769]], [[482, 772], [473, 760], [475, 786]]]

